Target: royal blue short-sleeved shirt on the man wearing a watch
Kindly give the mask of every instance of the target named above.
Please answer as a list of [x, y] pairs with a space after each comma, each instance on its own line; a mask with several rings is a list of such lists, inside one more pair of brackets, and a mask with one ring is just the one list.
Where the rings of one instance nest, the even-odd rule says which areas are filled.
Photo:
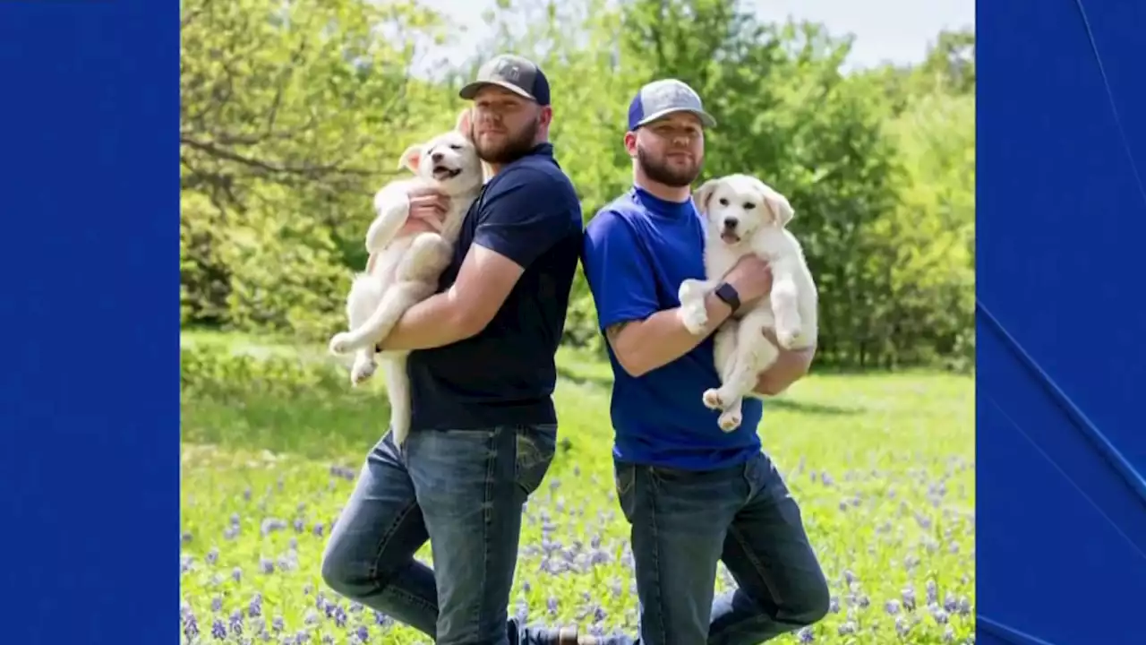
[[[704, 239], [691, 199], [667, 202], [635, 187], [598, 211], [586, 227], [581, 262], [602, 332], [680, 306], [681, 282], [705, 277]], [[760, 451], [760, 399], [744, 399], [744, 422], [731, 433], [701, 402], [706, 389], [720, 387], [712, 335], [638, 378], [621, 367], [611, 347], [609, 359], [618, 461], [704, 471], [743, 464]]]

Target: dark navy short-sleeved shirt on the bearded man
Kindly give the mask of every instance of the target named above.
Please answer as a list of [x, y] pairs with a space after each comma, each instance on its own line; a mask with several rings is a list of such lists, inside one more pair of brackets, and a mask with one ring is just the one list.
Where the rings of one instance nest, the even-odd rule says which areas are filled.
[[557, 422], [555, 355], [582, 234], [580, 201], [551, 145], [507, 164], [486, 184], [438, 290], [457, 279], [471, 244], [509, 257], [525, 272], [480, 333], [410, 353], [411, 429]]

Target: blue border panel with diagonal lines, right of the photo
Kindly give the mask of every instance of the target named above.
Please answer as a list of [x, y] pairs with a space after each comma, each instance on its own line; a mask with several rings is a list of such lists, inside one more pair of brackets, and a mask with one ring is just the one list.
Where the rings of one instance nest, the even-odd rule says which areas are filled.
[[976, 23], [978, 642], [1146, 643], [1146, 2]]

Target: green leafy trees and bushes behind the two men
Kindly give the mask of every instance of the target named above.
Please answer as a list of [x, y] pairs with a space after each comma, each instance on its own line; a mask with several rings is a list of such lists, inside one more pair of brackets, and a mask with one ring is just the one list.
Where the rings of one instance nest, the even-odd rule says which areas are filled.
[[[937, 34], [915, 68], [845, 75], [849, 39], [737, 2], [504, 0], [486, 18], [479, 50], [429, 80], [410, 73], [417, 44], [446, 39], [449, 20], [410, 1], [186, 1], [185, 325], [343, 327], [369, 195], [401, 149], [454, 123], [480, 61], [509, 50], [550, 77], [551, 139], [587, 220], [629, 185], [633, 94], [681, 78], [719, 122], [701, 180], [755, 173], [795, 208], [821, 364], [973, 367], [973, 33]], [[602, 348], [580, 272], [565, 342]]]

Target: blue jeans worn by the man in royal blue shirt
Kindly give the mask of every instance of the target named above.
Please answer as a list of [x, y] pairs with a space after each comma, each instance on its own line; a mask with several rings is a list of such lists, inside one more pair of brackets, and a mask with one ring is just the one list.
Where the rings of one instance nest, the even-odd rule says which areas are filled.
[[[756, 645], [827, 614], [827, 581], [771, 460], [712, 472], [617, 465], [631, 524], [639, 637], [611, 645]], [[716, 562], [738, 589], [714, 598]]]

